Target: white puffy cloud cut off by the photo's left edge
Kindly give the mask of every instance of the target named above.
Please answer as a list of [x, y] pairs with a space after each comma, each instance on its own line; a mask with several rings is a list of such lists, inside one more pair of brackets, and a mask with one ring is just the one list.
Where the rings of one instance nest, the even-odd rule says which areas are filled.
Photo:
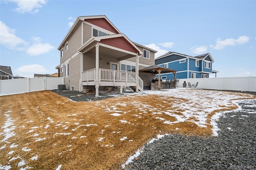
[[0, 21], [0, 43], [10, 49], [16, 48], [18, 45], [26, 45], [27, 43], [15, 35], [15, 29], [10, 29], [6, 24]]

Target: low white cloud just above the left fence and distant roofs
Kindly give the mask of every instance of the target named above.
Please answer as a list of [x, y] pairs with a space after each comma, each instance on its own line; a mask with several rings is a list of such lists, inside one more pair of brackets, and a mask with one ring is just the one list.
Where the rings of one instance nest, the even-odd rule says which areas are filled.
[[14, 71], [22, 77], [34, 77], [34, 74], [48, 73], [44, 66], [38, 64], [23, 65]]

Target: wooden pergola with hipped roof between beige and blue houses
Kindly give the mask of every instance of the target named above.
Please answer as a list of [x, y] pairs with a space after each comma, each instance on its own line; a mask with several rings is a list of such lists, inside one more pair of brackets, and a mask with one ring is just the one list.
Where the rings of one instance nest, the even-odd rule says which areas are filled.
[[174, 73], [174, 79], [176, 80], [176, 70], [168, 69], [166, 67], [162, 67], [160, 65], [152, 65], [150, 67], [146, 67], [144, 69], [140, 69], [139, 73], [151, 73], [153, 77], [158, 74], [158, 89], [161, 89], [160, 86], [160, 75], [161, 73]]

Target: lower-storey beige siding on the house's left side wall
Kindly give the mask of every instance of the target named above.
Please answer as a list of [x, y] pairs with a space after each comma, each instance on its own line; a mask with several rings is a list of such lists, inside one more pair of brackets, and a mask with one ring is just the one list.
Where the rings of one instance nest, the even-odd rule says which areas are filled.
[[72, 58], [68, 63], [68, 77], [65, 77], [64, 83], [68, 85], [68, 89], [70, 90], [70, 86], [74, 86], [76, 91], [79, 91], [79, 79], [80, 79], [80, 54], [76, 57]]

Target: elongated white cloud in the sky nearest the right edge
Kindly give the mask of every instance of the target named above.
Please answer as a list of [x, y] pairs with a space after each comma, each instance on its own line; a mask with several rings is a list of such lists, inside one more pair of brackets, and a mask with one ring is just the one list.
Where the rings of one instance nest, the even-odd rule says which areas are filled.
[[222, 40], [221, 38], [217, 38], [216, 45], [210, 45], [210, 47], [214, 49], [224, 49], [227, 45], [241, 45], [250, 40], [250, 37], [248, 36], [240, 36], [237, 39], [234, 38], [227, 38], [225, 40]]

